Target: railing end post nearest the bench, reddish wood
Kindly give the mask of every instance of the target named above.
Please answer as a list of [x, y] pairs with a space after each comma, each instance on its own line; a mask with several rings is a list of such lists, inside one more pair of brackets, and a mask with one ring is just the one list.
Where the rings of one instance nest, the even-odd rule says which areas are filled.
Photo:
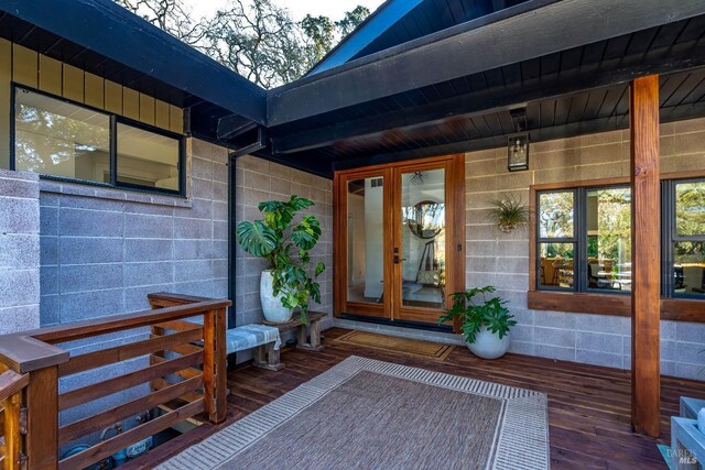
[[227, 413], [227, 352], [225, 308], [204, 315], [203, 381], [205, 408], [212, 423], [223, 423]]

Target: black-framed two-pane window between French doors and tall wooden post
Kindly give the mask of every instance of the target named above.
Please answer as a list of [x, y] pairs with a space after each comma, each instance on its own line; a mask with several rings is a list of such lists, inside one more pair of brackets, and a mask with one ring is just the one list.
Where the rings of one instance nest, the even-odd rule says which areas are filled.
[[540, 192], [536, 197], [538, 288], [631, 291], [628, 187]]

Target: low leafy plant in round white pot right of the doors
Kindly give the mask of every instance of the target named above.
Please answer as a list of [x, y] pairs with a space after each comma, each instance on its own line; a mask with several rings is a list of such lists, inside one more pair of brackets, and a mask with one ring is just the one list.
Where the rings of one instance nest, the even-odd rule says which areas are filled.
[[453, 307], [438, 318], [440, 324], [458, 318], [468, 349], [482, 359], [505, 356], [509, 350], [509, 330], [517, 325], [505, 307], [507, 300], [487, 298], [494, 292], [492, 286], [456, 292]]

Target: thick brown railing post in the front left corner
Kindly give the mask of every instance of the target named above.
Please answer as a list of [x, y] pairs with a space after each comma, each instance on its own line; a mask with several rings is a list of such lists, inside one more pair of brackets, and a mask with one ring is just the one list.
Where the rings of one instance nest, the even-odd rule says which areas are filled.
[[58, 368], [30, 373], [26, 389], [26, 456], [31, 469], [56, 469], [58, 463]]

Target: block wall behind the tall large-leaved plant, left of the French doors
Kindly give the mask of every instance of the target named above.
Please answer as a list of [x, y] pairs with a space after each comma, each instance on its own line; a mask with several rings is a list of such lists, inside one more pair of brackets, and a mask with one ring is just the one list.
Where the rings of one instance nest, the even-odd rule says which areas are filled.
[[[308, 212], [321, 221], [322, 237], [312, 251], [315, 263], [322, 261], [326, 271], [318, 277], [322, 304], [311, 306], [312, 310], [324, 311], [329, 318], [322, 327], [333, 326], [333, 182], [271, 163], [253, 156], [237, 161], [236, 219], [256, 220], [262, 218], [257, 206], [264, 200], [288, 200], [291, 195], [308, 198], [314, 206]], [[236, 249], [236, 311], [237, 325], [259, 323], [263, 319], [260, 304], [260, 273], [267, 269], [267, 261], [253, 258]]]

